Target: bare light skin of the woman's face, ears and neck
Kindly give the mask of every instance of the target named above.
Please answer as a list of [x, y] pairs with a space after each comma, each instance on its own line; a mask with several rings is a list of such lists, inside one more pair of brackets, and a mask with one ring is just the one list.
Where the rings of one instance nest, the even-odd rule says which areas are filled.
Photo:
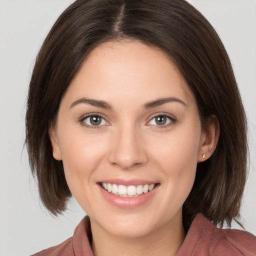
[[[184, 104], [144, 107], [166, 97]], [[81, 98], [106, 101], [111, 109], [77, 103]], [[84, 119], [88, 114], [102, 116], [100, 125]], [[154, 117], [164, 114], [170, 118], [157, 125]], [[202, 131], [193, 94], [159, 49], [137, 41], [106, 42], [86, 57], [49, 134], [69, 189], [90, 216], [95, 255], [175, 254], [185, 235], [182, 204], [196, 164], [216, 146], [216, 118], [208, 123]], [[124, 209], [109, 203], [98, 185], [117, 178], [159, 186], [142, 205]]]

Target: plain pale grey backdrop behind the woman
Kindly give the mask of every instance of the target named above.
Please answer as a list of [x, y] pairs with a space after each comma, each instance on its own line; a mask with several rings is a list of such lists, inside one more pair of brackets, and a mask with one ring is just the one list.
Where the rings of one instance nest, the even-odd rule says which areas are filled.
[[[29, 255], [72, 235], [84, 211], [75, 201], [58, 218], [39, 203], [24, 142], [25, 101], [36, 53], [73, 0], [0, 0], [0, 255]], [[256, 235], [256, 1], [190, 0], [220, 35], [248, 114], [250, 168], [241, 209]], [[239, 122], [239, 120], [237, 120]], [[236, 225], [234, 225], [236, 227]]]

